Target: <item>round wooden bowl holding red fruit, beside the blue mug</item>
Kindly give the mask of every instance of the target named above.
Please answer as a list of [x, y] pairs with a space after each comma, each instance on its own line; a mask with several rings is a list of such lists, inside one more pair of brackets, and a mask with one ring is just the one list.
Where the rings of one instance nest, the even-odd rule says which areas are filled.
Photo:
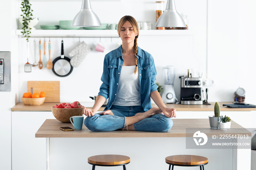
[[81, 108], [54, 108], [52, 107], [53, 116], [63, 122], [63, 123], [71, 123], [69, 118], [72, 116], [83, 116], [83, 106]]

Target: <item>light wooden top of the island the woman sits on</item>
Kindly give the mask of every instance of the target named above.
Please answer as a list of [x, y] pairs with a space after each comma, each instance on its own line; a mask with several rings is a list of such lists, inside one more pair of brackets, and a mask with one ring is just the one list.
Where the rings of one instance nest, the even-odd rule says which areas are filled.
[[[209, 119], [173, 119], [173, 127], [168, 132], [142, 132], [142, 131], [108, 131], [94, 132], [90, 131], [83, 124], [82, 130], [62, 131], [59, 127], [73, 127], [71, 123], [62, 123], [56, 119], [46, 119], [39, 130], [35, 133], [36, 138], [135, 138], [135, 137], [186, 137], [186, 128], [200, 128], [201, 132], [208, 137], [212, 135], [230, 134], [230, 135], [248, 135], [251, 132], [237, 124], [231, 122], [230, 130], [212, 130], [210, 129]], [[74, 128], [74, 127], [73, 127]], [[239, 128], [239, 130], [237, 129]], [[195, 132], [194, 132], [195, 133]], [[193, 134], [191, 134], [191, 137]], [[190, 137], [190, 136], [189, 136]]]

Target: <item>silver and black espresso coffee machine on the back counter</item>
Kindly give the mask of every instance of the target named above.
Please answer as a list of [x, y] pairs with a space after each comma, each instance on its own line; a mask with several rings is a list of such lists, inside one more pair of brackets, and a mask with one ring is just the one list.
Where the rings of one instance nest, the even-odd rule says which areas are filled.
[[200, 77], [184, 77], [181, 76], [180, 99], [184, 105], [200, 105], [203, 104], [201, 97], [201, 89], [203, 87], [203, 79]]

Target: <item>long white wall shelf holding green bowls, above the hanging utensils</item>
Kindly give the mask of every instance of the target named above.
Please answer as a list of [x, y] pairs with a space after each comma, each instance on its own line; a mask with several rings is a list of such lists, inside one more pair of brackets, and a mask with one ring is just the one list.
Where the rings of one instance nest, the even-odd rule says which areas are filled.
[[[16, 35], [22, 36], [22, 30]], [[193, 30], [140, 30], [139, 35], [195, 35]], [[31, 37], [118, 37], [117, 30], [33, 30]]]

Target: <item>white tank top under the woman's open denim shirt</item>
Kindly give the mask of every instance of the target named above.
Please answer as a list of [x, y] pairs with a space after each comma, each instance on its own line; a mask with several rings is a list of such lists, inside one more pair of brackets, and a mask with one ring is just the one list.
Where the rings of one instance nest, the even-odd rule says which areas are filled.
[[116, 100], [113, 105], [118, 106], [140, 106], [140, 80], [138, 70], [134, 74], [135, 66], [123, 66]]

